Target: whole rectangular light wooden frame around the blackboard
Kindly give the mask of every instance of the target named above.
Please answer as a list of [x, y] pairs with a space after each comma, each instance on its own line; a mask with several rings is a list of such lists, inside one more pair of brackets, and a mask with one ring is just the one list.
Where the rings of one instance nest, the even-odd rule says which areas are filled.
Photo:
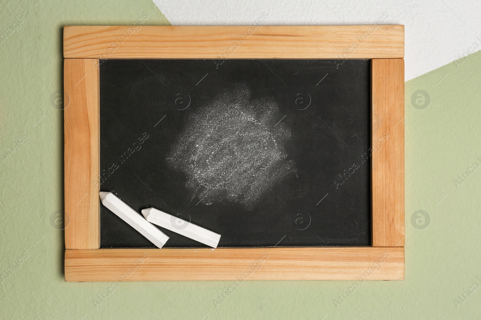
[[[404, 279], [403, 25], [67, 26], [63, 55], [65, 281]], [[98, 59], [372, 59], [372, 246], [99, 249]]]

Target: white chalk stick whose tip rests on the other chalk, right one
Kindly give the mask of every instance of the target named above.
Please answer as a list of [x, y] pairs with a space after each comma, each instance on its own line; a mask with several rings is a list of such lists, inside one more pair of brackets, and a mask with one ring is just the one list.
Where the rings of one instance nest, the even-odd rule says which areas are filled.
[[147, 221], [152, 222], [154, 225], [160, 225], [161, 227], [174, 231], [184, 237], [199, 241], [213, 248], [217, 248], [217, 245], [219, 244], [220, 235], [218, 233], [194, 225], [171, 214], [155, 208], [143, 209], [142, 214]]

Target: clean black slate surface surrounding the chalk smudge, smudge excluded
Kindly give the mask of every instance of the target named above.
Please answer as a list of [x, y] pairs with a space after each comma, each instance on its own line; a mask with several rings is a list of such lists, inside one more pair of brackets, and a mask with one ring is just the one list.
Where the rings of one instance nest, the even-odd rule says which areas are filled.
[[[296, 166], [251, 210], [204, 204], [165, 161], [196, 110], [240, 83], [277, 102]], [[139, 213], [190, 220], [219, 247], [370, 245], [370, 60], [101, 60], [100, 93], [101, 191]], [[160, 229], [165, 247], [205, 247]], [[153, 244], [101, 206], [101, 247]]]

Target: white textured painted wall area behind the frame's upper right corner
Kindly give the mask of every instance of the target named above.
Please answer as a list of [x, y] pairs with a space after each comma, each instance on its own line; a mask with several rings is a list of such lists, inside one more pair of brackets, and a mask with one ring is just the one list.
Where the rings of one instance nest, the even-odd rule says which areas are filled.
[[[481, 0], [153, 0], [173, 25], [405, 25], [405, 80], [481, 49]], [[474, 49], [473, 44], [477, 47]]]

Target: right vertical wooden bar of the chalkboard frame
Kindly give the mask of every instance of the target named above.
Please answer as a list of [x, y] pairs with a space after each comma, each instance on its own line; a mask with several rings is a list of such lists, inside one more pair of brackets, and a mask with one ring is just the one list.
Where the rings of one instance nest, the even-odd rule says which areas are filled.
[[404, 246], [404, 59], [372, 59], [372, 245]]

